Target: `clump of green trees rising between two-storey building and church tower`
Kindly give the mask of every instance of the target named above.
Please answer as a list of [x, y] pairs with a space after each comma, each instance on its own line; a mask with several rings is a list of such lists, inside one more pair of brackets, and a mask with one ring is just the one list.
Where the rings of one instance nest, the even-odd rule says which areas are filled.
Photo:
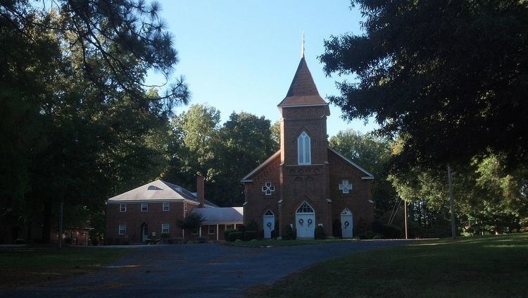
[[220, 206], [244, 201], [241, 178], [275, 151], [270, 120], [232, 113], [220, 125], [220, 112], [195, 104], [172, 120], [172, 156], [165, 179], [194, 189], [196, 173], [206, 176], [206, 197]]

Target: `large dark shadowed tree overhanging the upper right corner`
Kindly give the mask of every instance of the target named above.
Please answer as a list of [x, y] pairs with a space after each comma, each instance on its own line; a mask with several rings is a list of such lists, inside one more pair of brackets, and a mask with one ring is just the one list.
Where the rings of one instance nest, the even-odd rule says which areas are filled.
[[332, 36], [327, 75], [356, 75], [330, 97], [347, 119], [374, 116], [405, 140], [399, 166], [467, 163], [488, 150], [528, 157], [526, 1], [352, 1], [362, 35]]

